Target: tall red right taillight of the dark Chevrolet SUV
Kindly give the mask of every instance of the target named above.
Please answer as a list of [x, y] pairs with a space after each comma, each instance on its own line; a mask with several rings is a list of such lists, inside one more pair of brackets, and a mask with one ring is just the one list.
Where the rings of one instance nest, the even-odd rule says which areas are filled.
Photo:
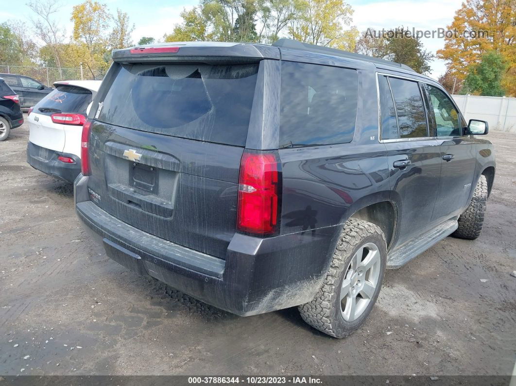
[[275, 153], [248, 152], [240, 162], [237, 229], [256, 236], [278, 230], [281, 204], [280, 164]]

